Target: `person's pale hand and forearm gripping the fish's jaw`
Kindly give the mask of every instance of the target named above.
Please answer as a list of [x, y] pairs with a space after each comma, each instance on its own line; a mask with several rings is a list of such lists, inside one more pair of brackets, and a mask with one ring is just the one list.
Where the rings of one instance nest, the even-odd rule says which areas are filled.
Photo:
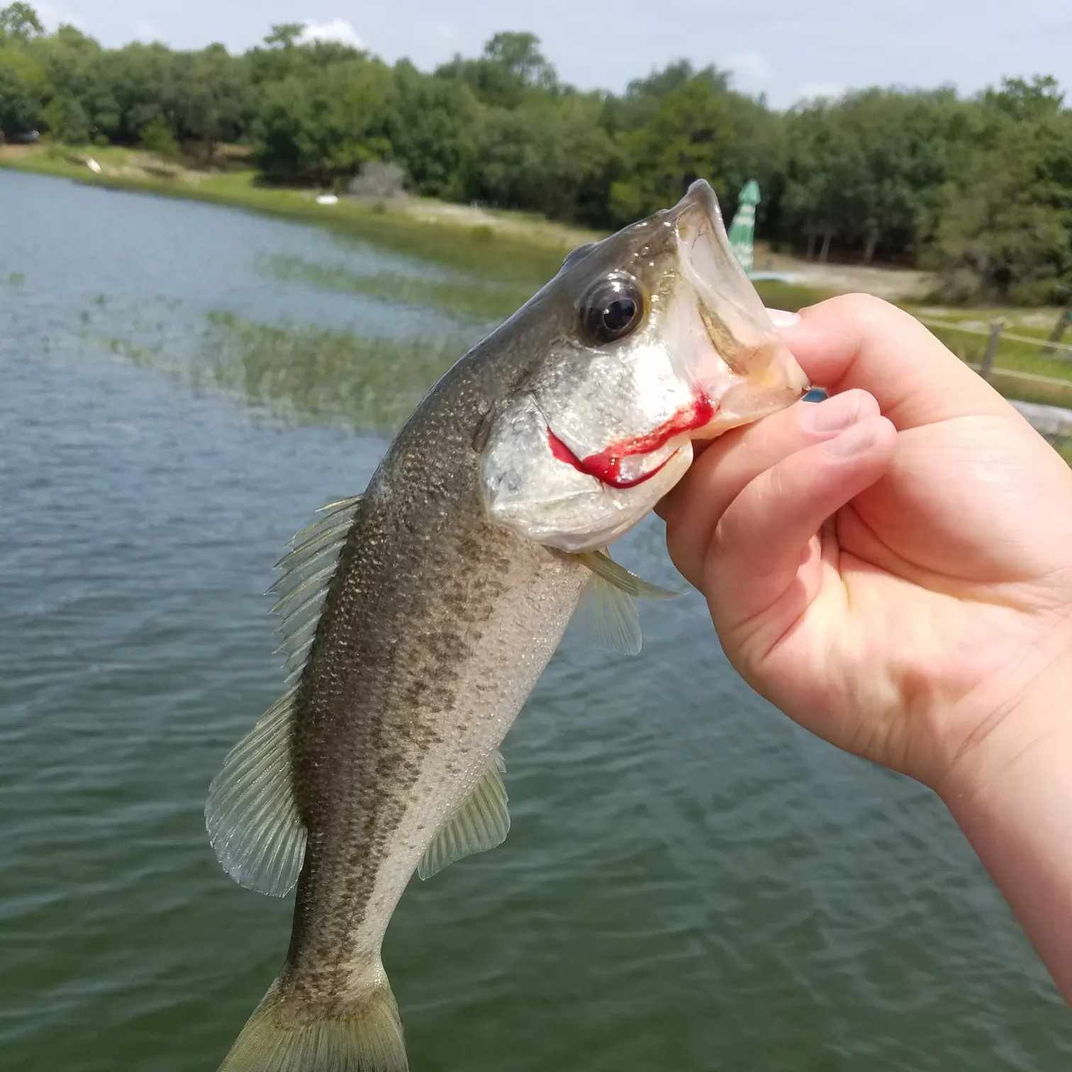
[[788, 319], [831, 398], [708, 446], [671, 556], [753, 688], [939, 794], [1072, 1002], [1072, 470], [907, 313]]

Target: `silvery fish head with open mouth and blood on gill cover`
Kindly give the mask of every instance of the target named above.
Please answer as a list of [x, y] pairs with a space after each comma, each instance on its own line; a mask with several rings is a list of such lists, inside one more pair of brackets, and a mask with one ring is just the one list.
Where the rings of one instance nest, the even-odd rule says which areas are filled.
[[730, 249], [698, 180], [673, 208], [583, 245], [519, 316], [527, 375], [493, 416], [491, 518], [564, 551], [604, 548], [711, 440], [809, 384]]

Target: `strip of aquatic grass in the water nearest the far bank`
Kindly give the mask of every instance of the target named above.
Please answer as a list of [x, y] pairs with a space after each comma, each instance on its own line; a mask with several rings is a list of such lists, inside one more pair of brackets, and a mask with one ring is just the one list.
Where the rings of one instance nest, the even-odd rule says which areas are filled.
[[297, 256], [258, 257], [255, 268], [273, 279], [296, 280], [343, 294], [367, 294], [480, 321], [505, 319], [536, 292], [536, 284], [495, 283], [462, 274], [449, 279], [384, 271], [368, 274], [345, 265], [314, 264]]

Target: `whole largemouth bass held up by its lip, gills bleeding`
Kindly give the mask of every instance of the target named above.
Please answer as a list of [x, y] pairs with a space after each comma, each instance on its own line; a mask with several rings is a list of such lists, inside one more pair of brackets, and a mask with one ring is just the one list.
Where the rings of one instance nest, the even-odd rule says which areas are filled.
[[287, 687], [205, 815], [234, 879], [296, 888], [294, 920], [221, 1072], [406, 1072], [381, 957], [403, 891], [506, 838], [500, 748], [575, 614], [636, 653], [635, 600], [675, 594], [609, 545], [695, 441], [808, 386], [698, 180], [572, 251], [433, 385], [364, 492], [292, 540]]

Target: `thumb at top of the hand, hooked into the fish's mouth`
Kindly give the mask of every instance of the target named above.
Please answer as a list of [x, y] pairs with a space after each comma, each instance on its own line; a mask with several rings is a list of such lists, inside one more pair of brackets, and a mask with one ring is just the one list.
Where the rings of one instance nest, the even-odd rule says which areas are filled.
[[861, 387], [897, 429], [1016, 411], [914, 316], [880, 298], [846, 294], [802, 309], [781, 336], [812, 383]]

